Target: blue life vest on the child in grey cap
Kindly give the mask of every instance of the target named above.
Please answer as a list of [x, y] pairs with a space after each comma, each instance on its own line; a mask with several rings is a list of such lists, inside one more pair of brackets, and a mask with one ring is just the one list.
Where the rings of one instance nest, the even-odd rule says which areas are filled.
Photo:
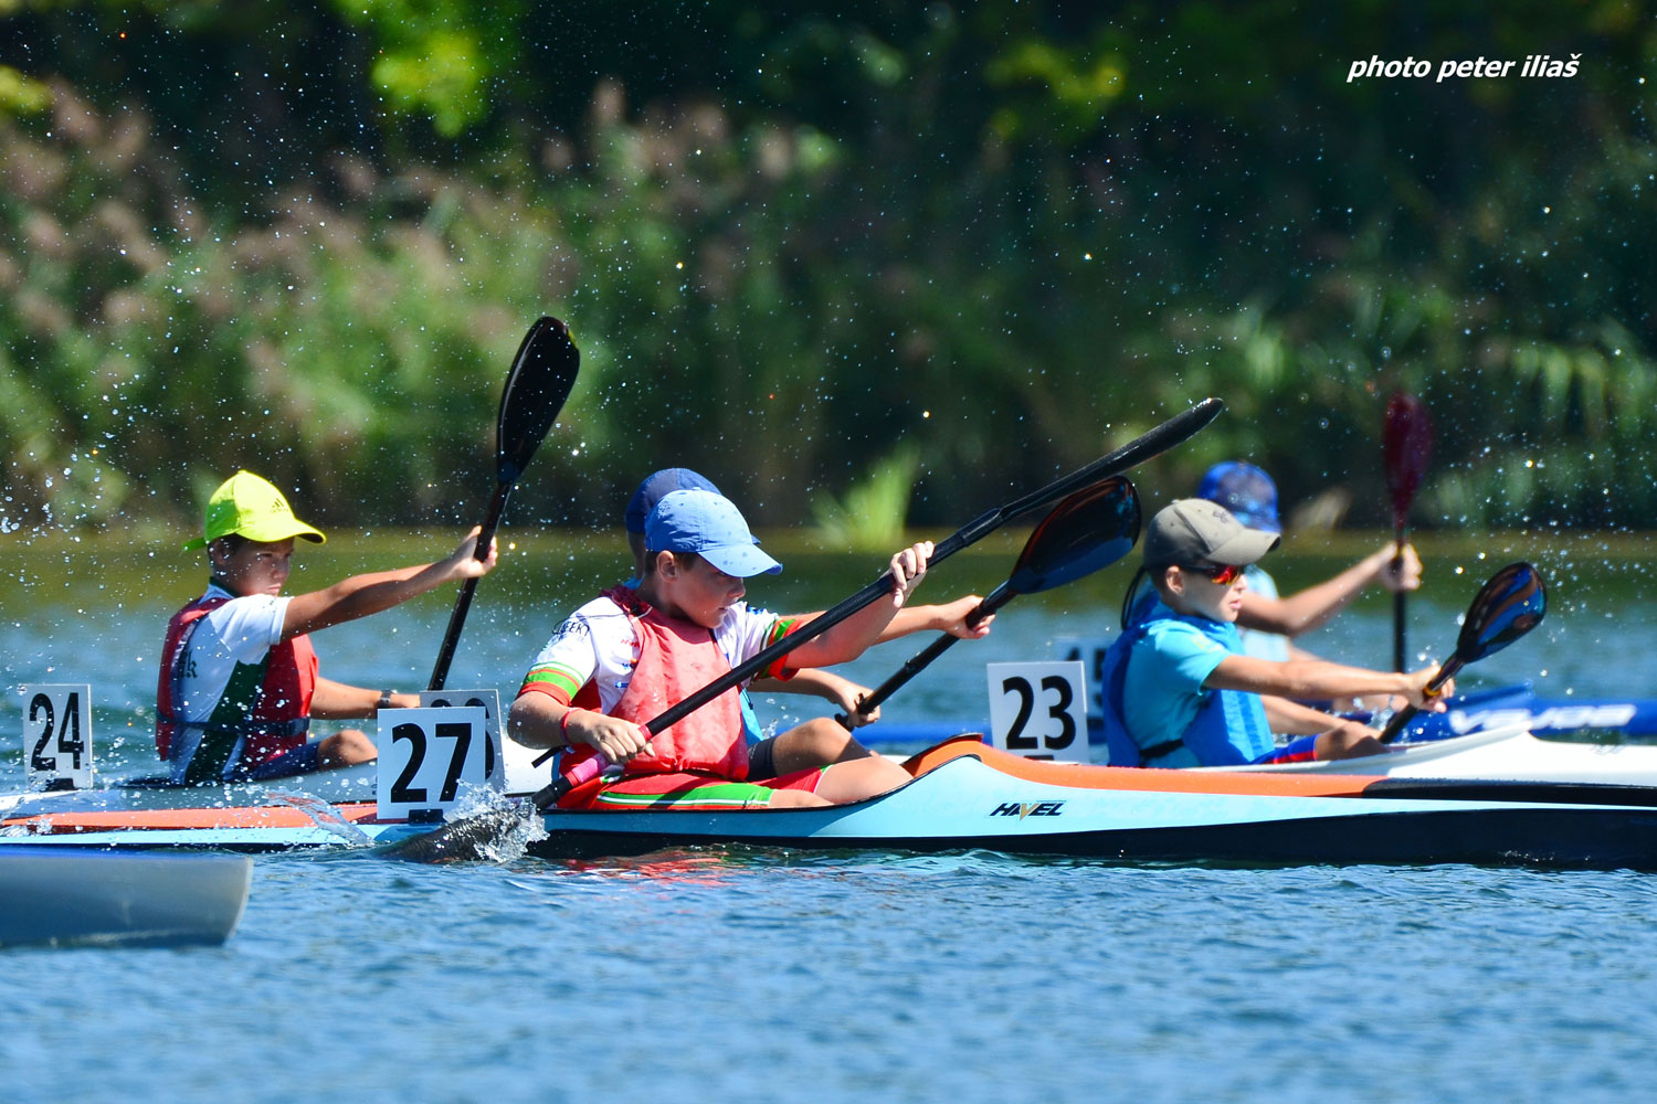
[[1133, 654], [1133, 647], [1145, 639], [1150, 626], [1165, 619], [1181, 621], [1195, 627], [1228, 652], [1238, 654], [1239, 650], [1236, 626], [1229, 622], [1181, 616], [1158, 601], [1135, 602], [1130, 614], [1132, 624], [1105, 649], [1100, 672], [1105, 698], [1105, 746], [1110, 753], [1110, 765], [1155, 766], [1157, 760], [1180, 748], [1190, 748], [1203, 766], [1238, 766], [1271, 753], [1276, 742], [1271, 735], [1271, 725], [1266, 722], [1266, 705], [1258, 694], [1249, 690], [1206, 690], [1196, 718], [1178, 740], [1165, 740], [1147, 748], [1133, 738], [1127, 722], [1122, 720], [1128, 657]]

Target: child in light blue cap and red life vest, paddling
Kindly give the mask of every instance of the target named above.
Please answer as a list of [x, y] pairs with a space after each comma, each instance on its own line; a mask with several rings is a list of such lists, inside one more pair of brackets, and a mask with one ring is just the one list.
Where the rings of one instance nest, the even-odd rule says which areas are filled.
[[[590, 808], [810, 806], [860, 801], [908, 781], [880, 756], [749, 778], [736, 689], [648, 737], [643, 722], [741, 665], [804, 621], [751, 609], [744, 579], [782, 564], [761, 551], [741, 511], [706, 490], [676, 490], [645, 520], [636, 588], [620, 586], [575, 611], [535, 659], [509, 727], [532, 748], [575, 748], [573, 763], [603, 755], [620, 780], [577, 788]], [[926, 573], [931, 543], [891, 558], [890, 599], [873, 602], [789, 652], [769, 677], [857, 659], [875, 644]]]

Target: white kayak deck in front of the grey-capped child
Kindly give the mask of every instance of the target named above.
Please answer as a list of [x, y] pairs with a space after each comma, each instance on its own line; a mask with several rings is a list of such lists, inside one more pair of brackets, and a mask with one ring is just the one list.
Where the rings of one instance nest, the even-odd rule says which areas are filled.
[[1538, 740], [1523, 722], [1465, 737], [1395, 743], [1382, 755], [1264, 766], [1205, 766], [1269, 773], [1387, 775], [1495, 783], [1657, 786], [1657, 746]]

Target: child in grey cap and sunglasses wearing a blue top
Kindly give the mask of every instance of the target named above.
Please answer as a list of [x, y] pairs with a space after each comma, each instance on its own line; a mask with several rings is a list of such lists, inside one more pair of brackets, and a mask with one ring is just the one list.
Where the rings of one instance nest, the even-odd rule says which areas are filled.
[[[1236, 766], [1382, 751], [1365, 725], [1289, 698], [1397, 694], [1443, 712], [1452, 682], [1425, 695], [1437, 667], [1392, 674], [1243, 654], [1236, 629], [1248, 593], [1243, 569], [1278, 541], [1205, 498], [1183, 498], [1152, 518], [1140, 568], [1152, 588], [1140, 589], [1140, 574], [1133, 576], [1122, 636], [1102, 670], [1112, 763]], [[1278, 748], [1273, 732], [1301, 738]]]

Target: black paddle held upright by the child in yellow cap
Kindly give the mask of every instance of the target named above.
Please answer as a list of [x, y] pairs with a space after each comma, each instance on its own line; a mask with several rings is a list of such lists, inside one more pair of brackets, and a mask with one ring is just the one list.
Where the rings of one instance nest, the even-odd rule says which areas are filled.
[[[489, 558], [489, 541], [500, 523], [500, 513], [507, 508], [507, 495], [552, 429], [563, 401], [570, 397], [580, 364], [582, 354], [570, 339], [570, 329], [557, 318], [542, 318], [524, 334], [524, 343], [512, 358], [507, 386], [500, 392], [500, 415], [495, 420], [495, 495], [489, 500], [489, 511], [477, 535], [479, 559]], [[461, 626], [466, 624], [476, 589], [477, 579], [467, 579], [454, 601], [449, 631], [442, 636], [442, 649], [431, 669], [428, 690], [442, 690], [442, 684], [449, 679], [449, 662], [461, 642]]]

